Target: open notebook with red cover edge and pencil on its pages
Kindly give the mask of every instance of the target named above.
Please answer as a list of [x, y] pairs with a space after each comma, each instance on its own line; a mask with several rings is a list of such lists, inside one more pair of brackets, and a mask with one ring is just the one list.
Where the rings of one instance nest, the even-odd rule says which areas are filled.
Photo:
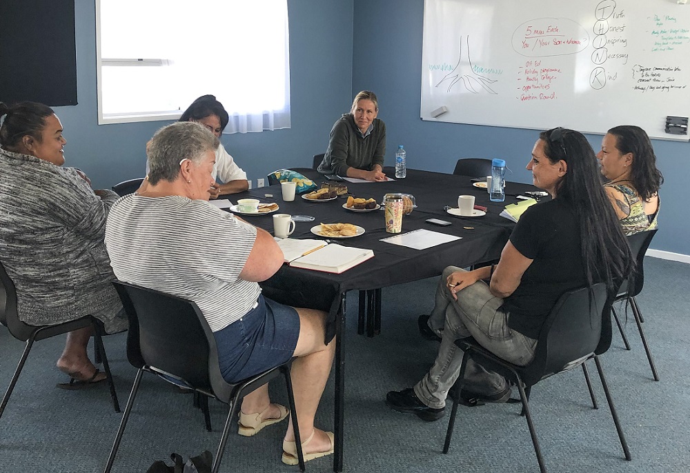
[[293, 268], [340, 274], [373, 258], [374, 252], [364, 248], [326, 244], [321, 240], [282, 239], [284, 261]]

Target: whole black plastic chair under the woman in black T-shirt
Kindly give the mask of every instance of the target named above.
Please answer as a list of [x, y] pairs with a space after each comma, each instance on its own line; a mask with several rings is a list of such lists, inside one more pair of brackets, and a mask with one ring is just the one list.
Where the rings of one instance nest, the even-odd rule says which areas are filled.
[[449, 450], [455, 415], [457, 414], [457, 404], [460, 400], [459, 394], [462, 387], [465, 365], [468, 356], [471, 354], [472, 356], [477, 356], [477, 358], [482, 358], [481, 363], [486, 368], [504, 374], [507, 379], [514, 381], [515, 385], [517, 385], [517, 390], [520, 391], [520, 400], [522, 401], [522, 415], [526, 416], [527, 419], [540, 471], [542, 473], [546, 472], [536, 430], [527, 405], [531, 387], [538, 383], [538, 381], [553, 374], [566, 372], [582, 365], [592, 404], [596, 409], [598, 405], [589, 379], [589, 373], [584, 364], [587, 360], [593, 358], [604, 387], [604, 393], [609, 402], [611, 416], [618, 431], [618, 438], [620, 439], [620, 445], [623, 447], [625, 459], [630, 460], [628, 444], [620, 427], [618, 414], [615, 412], [611, 393], [609, 392], [609, 387], [604, 378], [604, 371], [598, 358], [598, 355], [606, 352], [611, 344], [610, 304], [607, 303], [606, 299], [604, 283], [595, 284], [592, 288], [580, 288], [563, 294], [558, 299], [553, 310], [551, 310], [546, 321], [544, 321], [544, 326], [537, 342], [535, 358], [526, 366], [513, 365], [500, 359], [483, 348], [474, 339], [455, 341], [455, 344], [464, 351], [464, 356], [462, 358], [460, 376], [452, 390], [453, 410], [446, 432], [446, 443], [444, 444], [443, 452], [448, 453]]

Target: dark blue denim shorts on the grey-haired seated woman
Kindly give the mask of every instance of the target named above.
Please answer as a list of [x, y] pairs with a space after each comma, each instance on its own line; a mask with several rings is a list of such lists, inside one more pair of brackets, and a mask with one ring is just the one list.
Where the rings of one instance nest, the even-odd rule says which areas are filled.
[[255, 308], [213, 335], [221, 374], [228, 383], [237, 383], [293, 356], [299, 338], [299, 315], [289, 305], [259, 294]]

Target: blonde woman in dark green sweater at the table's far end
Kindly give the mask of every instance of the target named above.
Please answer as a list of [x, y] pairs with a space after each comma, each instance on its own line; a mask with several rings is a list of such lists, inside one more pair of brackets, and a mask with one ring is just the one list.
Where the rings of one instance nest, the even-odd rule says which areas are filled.
[[377, 119], [379, 102], [374, 92], [355, 96], [350, 113], [335, 122], [318, 171], [345, 177], [386, 181], [386, 124]]

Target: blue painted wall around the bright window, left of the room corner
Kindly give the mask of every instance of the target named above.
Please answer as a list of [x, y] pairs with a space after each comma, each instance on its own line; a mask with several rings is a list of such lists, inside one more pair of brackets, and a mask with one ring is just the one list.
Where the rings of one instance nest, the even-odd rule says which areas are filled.
[[[170, 121], [98, 125], [95, 5], [75, 6], [79, 105], [55, 112], [68, 141], [67, 165], [84, 170], [95, 188], [110, 188], [144, 174], [146, 141]], [[313, 154], [326, 151], [333, 123], [352, 103], [353, 1], [288, 0], [288, 14], [292, 128], [221, 139], [253, 181], [284, 166], [311, 167]]]

